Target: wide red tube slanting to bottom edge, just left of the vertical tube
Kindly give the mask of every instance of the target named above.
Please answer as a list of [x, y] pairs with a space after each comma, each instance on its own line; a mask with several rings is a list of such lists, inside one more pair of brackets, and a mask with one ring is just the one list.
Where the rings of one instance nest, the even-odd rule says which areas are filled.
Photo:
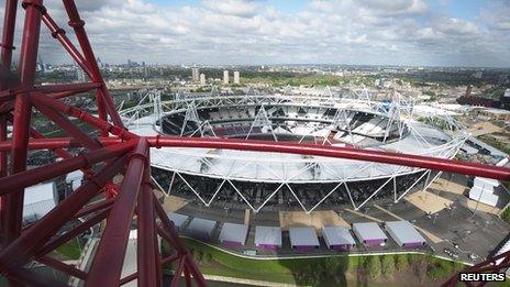
[[[121, 279], [130, 225], [142, 176], [147, 163], [148, 144], [144, 139], [131, 154], [124, 180], [107, 220], [86, 286], [118, 286]], [[142, 234], [138, 234], [142, 235]]]

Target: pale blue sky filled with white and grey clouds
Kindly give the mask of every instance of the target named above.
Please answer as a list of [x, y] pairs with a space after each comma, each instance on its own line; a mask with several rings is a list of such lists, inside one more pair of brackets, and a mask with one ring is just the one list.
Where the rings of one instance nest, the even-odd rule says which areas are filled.
[[[510, 0], [76, 2], [97, 56], [112, 64], [510, 67]], [[62, 1], [45, 4], [69, 31]], [[71, 62], [47, 33], [40, 54]]]

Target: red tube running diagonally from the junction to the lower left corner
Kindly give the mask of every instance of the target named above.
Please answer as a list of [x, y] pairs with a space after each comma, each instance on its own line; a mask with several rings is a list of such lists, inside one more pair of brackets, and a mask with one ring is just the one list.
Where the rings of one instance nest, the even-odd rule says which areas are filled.
[[9, 274], [24, 265], [98, 190], [110, 180], [125, 164], [122, 156], [103, 167], [93, 178], [80, 186], [41, 220], [23, 232], [14, 242], [0, 252], [0, 274]]

